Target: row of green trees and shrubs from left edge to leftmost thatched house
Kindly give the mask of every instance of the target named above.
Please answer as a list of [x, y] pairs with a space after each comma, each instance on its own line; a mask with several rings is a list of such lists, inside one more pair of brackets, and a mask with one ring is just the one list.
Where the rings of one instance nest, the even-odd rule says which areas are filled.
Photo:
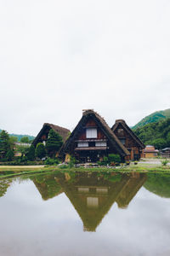
[[[26, 162], [27, 160], [42, 160], [47, 157], [54, 159], [63, 144], [63, 138], [51, 129], [45, 145], [37, 143], [36, 148], [33, 144], [30, 146], [28, 137], [22, 137], [20, 144], [16, 144], [16, 142], [17, 138], [10, 137], [7, 131], [0, 132], [0, 161], [20, 160]], [[20, 153], [20, 156], [15, 156], [15, 153]]]

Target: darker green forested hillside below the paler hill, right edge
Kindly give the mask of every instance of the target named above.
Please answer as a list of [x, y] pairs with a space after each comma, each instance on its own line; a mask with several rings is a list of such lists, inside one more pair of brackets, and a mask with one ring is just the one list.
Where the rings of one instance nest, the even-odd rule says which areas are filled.
[[154, 145], [156, 149], [170, 148], [170, 119], [150, 123], [133, 131], [145, 145]]

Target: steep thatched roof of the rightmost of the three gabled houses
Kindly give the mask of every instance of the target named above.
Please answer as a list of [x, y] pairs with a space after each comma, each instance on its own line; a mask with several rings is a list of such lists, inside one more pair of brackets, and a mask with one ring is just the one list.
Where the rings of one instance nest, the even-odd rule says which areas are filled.
[[136, 134], [134, 134], [134, 132], [130, 129], [130, 127], [127, 125], [127, 123], [125, 122], [125, 120], [123, 120], [123, 119], [117, 119], [116, 122], [115, 122], [115, 125], [113, 125], [113, 126], [111, 127], [111, 130], [112, 130], [113, 132], [115, 132], [115, 131], [116, 131], [116, 128], [118, 127], [118, 125], [122, 125], [123, 129], [124, 129], [125, 131], [127, 131], [127, 133], [128, 133], [131, 137], [133, 137], [133, 140], [134, 140], [136, 143], [139, 144], [139, 147], [140, 147], [140, 148], [145, 148], [144, 143], [142, 143], [141, 140], [139, 139], [139, 137], [137, 137]]

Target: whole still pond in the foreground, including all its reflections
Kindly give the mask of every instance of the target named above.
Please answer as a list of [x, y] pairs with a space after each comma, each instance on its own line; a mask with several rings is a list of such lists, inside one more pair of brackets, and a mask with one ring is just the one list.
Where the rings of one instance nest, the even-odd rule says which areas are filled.
[[0, 179], [0, 255], [170, 255], [170, 175]]

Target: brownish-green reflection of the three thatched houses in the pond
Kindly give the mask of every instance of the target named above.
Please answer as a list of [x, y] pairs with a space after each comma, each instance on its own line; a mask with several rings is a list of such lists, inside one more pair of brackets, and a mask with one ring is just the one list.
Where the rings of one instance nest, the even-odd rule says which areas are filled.
[[[70, 172], [51, 175], [51, 178], [51, 182], [50, 176], [47, 180], [44, 176], [42, 183], [34, 181], [42, 198], [47, 200], [65, 192], [82, 219], [84, 230], [95, 231], [114, 202], [118, 207], [127, 207], [144, 184], [146, 174]], [[55, 186], [58, 189], [55, 190]]]

